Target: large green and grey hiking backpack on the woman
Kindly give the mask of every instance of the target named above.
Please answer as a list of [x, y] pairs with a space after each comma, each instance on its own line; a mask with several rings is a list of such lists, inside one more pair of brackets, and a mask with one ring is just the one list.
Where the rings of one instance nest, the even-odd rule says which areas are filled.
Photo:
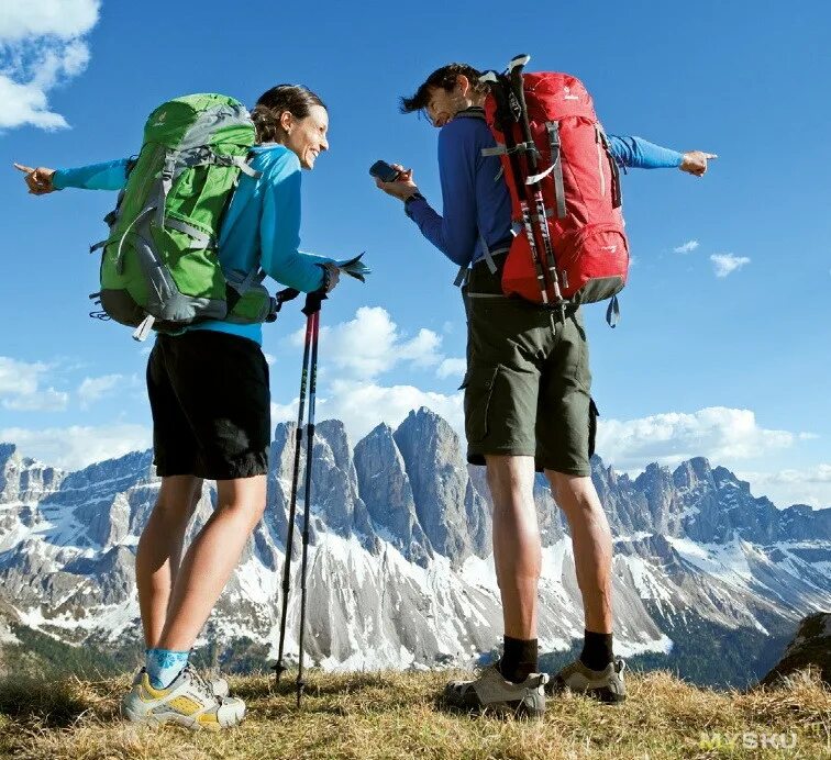
[[223, 272], [220, 224], [240, 172], [248, 166], [255, 130], [239, 101], [191, 94], [159, 105], [147, 119], [138, 157], [104, 221], [101, 291], [95, 314], [137, 327], [136, 340], [156, 329], [180, 332], [206, 320], [269, 322], [277, 302], [264, 273]]

